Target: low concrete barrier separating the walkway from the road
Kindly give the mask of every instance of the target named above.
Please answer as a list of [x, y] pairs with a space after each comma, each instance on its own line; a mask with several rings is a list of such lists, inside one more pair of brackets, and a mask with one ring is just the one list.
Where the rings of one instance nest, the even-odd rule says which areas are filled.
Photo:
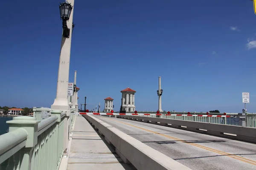
[[131, 163], [137, 170], [191, 170], [148, 145], [117, 130], [115, 127], [90, 115], [83, 115], [109, 144], [116, 147], [116, 153], [125, 163]]

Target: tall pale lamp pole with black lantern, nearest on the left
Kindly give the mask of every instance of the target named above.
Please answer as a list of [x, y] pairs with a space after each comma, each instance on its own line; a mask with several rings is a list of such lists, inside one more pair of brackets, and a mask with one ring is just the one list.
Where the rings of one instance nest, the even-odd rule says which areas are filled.
[[70, 69], [70, 50], [71, 38], [70, 29], [73, 29], [73, 5], [74, 0], [67, 0], [60, 5], [60, 14], [62, 19], [62, 38], [61, 38], [61, 53], [58, 68], [57, 94], [54, 103], [51, 106], [52, 110], [67, 111], [67, 116], [70, 115], [70, 107], [68, 105], [67, 87], [69, 80]]

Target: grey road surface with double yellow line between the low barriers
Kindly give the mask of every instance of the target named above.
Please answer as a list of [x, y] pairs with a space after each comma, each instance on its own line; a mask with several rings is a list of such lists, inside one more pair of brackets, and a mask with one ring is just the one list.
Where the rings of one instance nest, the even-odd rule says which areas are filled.
[[95, 117], [192, 170], [256, 170], [256, 144], [133, 120]]

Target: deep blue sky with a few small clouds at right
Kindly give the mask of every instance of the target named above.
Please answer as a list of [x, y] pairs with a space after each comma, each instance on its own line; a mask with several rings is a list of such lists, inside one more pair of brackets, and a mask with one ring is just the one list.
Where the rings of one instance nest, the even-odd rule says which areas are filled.
[[[61, 45], [58, 0], [3, 1], [0, 106], [50, 107]], [[256, 112], [256, 15], [250, 0], [76, 0], [70, 82], [79, 104], [137, 91], [137, 111]], [[88, 106], [93, 107], [93, 106]], [[80, 105], [79, 105], [80, 108]]]

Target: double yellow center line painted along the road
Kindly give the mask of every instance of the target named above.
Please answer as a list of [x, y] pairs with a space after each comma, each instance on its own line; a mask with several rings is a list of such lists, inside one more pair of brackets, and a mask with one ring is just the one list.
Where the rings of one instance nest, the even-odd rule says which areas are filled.
[[[103, 119], [108, 119], [108, 118], [103, 118]], [[221, 151], [221, 150], [216, 150], [216, 149], [213, 149], [213, 148], [210, 148], [210, 147], [205, 147], [205, 146], [203, 146], [203, 145], [201, 145], [201, 144], [191, 143], [191, 142], [188, 142], [188, 141], [186, 141], [186, 140], [178, 139], [178, 138], [175, 138], [175, 137], [172, 137], [172, 136], [169, 136], [169, 135], [165, 135], [165, 134], [162, 134], [162, 133], [158, 133], [158, 132], [155, 132], [155, 131], [152, 131], [152, 130], [145, 129], [145, 128], [143, 128], [143, 127], [131, 125], [131, 124], [129, 124], [129, 123], [121, 122], [121, 121], [118, 121], [118, 120], [112, 120], [112, 119], [108, 119], [108, 120], [115, 121], [115, 122], [119, 122], [119, 123], [122, 123], [122, 124], [125, 124], [125, 125], [129, 125], [129, 126], [132, 126], [132, 127], [136, 127], [136, 128], [138, 128], [138, 129], [141, 129], [141, 130], [145, 130], [145, 131], [154, 133], [154, 134], [156, 134], [156, 135], [164, 136], [164, 137], [167, 137], [167, 138], [169, 138], [169, 139], [174, 139], [174, 140], [176, 140], [176, 141], [178, 141], [178, 142], [183, 142], [183, 143], [186, 143], [186, 144], [195, 146], [195, 147], [199, 147], [199, 148], [204, 149], [204, 150], [209, 150], [209, 151], [211, 151], [211, 152], [218, 153], [218, 154], [223, 155], [223, 156], [228, 156], [228, 157], [230, 157], [230, 158], [233, 158], [233, 159], [237, 159], [237, 160], [239, 160], [239, 161], [246, 162], [246, 163], [248, 163], [248, 164], [256, 165], [256, 161], [253, 161], [253, 160], [251, 160], [251, 159], [247, 159], [247, 158], [244, 158], [244, 157], [241, 157], [241, 156], [233, 155], [233, 154], [231, 154], [231, 153], [223, 152], [223, 151]]]

